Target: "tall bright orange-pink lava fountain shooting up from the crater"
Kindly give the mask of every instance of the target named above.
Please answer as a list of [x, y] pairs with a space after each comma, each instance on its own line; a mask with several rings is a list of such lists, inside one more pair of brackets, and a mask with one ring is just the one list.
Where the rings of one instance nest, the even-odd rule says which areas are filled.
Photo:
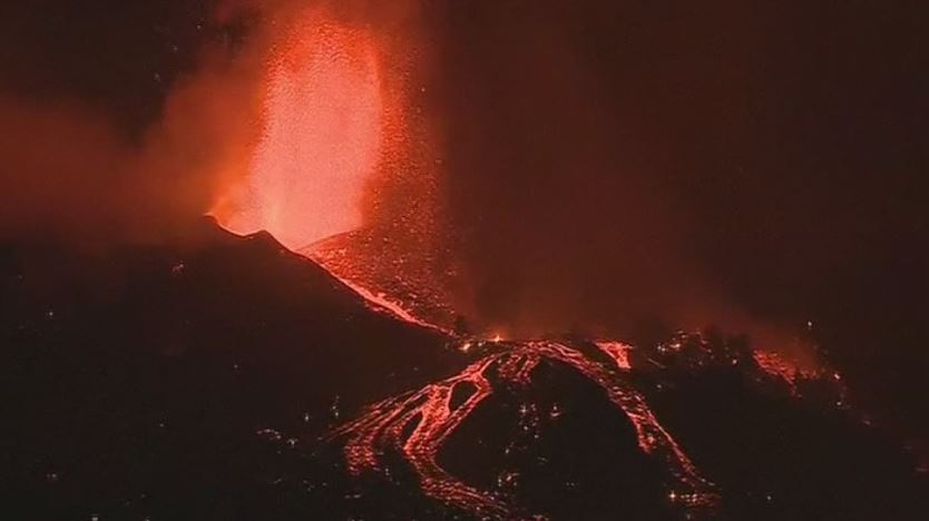
[[310, 12], [280, 41], [248, 176], [212, 214], [235, 233], [265, 229], [300, 248], [362, 225], [383, 100], [377, 46], [364, 31]]

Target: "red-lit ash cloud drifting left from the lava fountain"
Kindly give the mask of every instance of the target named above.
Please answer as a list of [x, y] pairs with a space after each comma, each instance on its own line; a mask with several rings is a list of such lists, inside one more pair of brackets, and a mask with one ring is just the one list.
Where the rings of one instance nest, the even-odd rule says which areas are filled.
[[80, 102], [2, 99], [0, 233], [102, 242], [183, 233], [239, 175], [252, 139], [239, 119], [250, 96], [237, 91], [250, 87], [231, 87], [228, 75], [201, 71], [178, 87], [139, 142]]

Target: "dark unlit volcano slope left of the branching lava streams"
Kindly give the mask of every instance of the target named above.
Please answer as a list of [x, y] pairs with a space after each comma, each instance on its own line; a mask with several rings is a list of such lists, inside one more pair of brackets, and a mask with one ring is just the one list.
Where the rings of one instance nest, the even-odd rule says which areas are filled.
[[301, 518], [314, 497], [283, 483], [334, 473], [301, 456], [310, 441], [454, 370], [447, 338], [270, 235], [195, 229], [0, 245], [0, 497], [17, 519]]

